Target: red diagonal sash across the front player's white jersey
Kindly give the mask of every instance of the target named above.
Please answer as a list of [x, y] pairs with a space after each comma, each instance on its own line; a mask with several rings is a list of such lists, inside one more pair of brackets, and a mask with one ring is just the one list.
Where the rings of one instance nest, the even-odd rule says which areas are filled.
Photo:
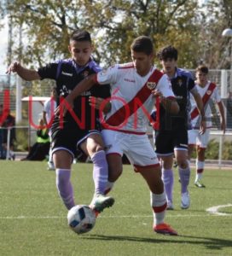
[[155, 89], [156, 85], [159, 83], [159, 79], [161, 79], [163, 75], [164, 74], [161, 73], [158, 69], [155, 69], [154, 73], [151, 74], [148, 81], [142, 86], [141, 90], [139, 90], [136, 93], [136, 96], [131, 99], [131, 102], [127, 102], [124, 106], [113, 113], [109, 119], [107, 119], [107, 125], [119, 126], [125, 122], [126, 119], [128, 119], [133, 113], [136, 112], [137, 108], [135, 106], [138, 100], [142, 103], [147, 101], [148, 97], [151, 95], [151, 91]]

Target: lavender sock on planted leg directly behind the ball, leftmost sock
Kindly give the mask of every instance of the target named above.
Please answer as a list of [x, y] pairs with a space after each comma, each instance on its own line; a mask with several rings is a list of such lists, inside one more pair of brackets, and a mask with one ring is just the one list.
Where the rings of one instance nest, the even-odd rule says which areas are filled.
[[61, 200], [67, 207], [71, 209], [75, 206], [73, 198], [73, 186], [70, 182], [71, 170], [69, 169], [56, 169], [56, 187], [61, 196]]

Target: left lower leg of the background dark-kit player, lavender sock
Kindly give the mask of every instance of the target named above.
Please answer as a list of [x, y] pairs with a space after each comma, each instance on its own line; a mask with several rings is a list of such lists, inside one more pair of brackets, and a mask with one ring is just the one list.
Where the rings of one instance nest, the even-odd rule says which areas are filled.
[[165, 185], [165, 193], [167, 198], [167, 210], [173, 210], [172, 190], [174, 183], [174, 175], [172, 170], [173, 155], [167, 155], [161, 157], [163, 161], [162, 165], [162, 180]]

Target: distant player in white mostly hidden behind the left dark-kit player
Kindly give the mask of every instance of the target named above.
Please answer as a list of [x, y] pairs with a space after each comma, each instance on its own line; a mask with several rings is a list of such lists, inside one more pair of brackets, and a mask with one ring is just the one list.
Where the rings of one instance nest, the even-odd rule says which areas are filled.
[[[54, 119], [54, 113], [56, 108], [56, 90], [55, 87], [52, 87], [50, 90], [50, 98], [44, 102], [43, 110], [43, 119], [44, 124], [51, 126], [52, 120]], [[51, 142], [51, 131], [49, 129], [49, 137]], [[48, 170], [55, 171], [55, 166], [52, 159], [52, 148], [49, 149], [49, 161], [48, 161]]]

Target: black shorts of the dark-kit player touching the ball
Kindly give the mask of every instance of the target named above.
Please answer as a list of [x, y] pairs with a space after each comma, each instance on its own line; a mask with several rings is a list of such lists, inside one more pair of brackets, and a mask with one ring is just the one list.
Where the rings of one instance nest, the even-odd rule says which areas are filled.
[[101, 135], [99, 125], [96, 125], [97, 129], [80, 129], [78, 125], [72, 122], [65, 122], [62, 126], [59, 120], [55, 120], [51, 126], [51, 138], [52, 138], [52, 151], [55, 152], [59, 149], [67, 150], [70, 154], [73, 154], [73, 158], [77, 155], [77, 148], [84, 140], [92, 133], [98, 133]]

